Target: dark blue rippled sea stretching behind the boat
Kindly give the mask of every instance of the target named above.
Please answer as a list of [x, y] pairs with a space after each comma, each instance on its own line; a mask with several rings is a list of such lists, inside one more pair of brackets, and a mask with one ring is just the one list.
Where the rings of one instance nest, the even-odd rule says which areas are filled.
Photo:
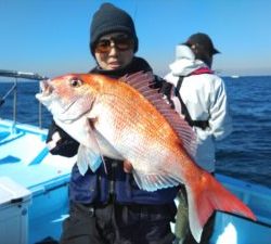
[[[217, 171], [248, 182], [271, 188], [271, 76], [224, 77], [234, 130], [217, 144]], [[11, 88], [0, 82], [0, 97]], [[17, 117], [20, 123], [38, 125], [38, 82], [17, 86]], [[0, 107], [0, 117], [13, 118], [13, 97]], [[43, 127], [51, 115], [42, 107]]]

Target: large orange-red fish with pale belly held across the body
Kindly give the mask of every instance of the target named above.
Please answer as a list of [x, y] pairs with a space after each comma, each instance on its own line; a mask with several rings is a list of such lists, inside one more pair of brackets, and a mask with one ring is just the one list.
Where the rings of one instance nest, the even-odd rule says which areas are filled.
[[193, 159], [195, 133], [154, 89], [152, 73], [119, 79], [67, 74], [41, 81], [36, 98], [63, 130], [80, 143], [80, 174], [95, 171], [108, 156], [130, 165], [140, 189], [184, 184], [189, 222], [199, 242], [215, 210], [256, 220], [254, 213]]

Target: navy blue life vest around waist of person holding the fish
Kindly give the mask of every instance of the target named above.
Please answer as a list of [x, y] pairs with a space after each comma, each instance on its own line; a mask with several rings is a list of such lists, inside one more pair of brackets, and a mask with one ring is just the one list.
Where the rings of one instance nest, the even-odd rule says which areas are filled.
[[74, 165], [69, 182], [69, 200], [81, 204], [103, 205], [111, 201], [119, 204], [163, 205], [173, 203], [180, 187], [147, 192], [139, 189], [132, 174], [124, 171], [124, 165], [106, 159], [106, 170], [101, 165], [95, 172], [90, 169], [82, 176]]

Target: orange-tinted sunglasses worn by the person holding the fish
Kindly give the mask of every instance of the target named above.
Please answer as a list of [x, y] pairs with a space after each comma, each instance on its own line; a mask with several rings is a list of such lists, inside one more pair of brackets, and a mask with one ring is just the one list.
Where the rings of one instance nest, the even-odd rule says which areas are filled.
[[133, 48], [133, 40], [130, 37], [122, 36], [101, 39], [98, 41], [94, 51], [98, 53], [108, 53], [113, 47], [118, 51], [127, 51]]

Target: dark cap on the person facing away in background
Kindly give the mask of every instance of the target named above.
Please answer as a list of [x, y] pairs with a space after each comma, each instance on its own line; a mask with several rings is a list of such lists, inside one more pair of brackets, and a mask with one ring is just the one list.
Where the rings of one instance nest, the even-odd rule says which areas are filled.
[[185, 42], [188, 46], [198, 44], [203, 47], [210, 55], [220, 53], [212, 44], [210, 37], [203, 33], [192, 35]]

